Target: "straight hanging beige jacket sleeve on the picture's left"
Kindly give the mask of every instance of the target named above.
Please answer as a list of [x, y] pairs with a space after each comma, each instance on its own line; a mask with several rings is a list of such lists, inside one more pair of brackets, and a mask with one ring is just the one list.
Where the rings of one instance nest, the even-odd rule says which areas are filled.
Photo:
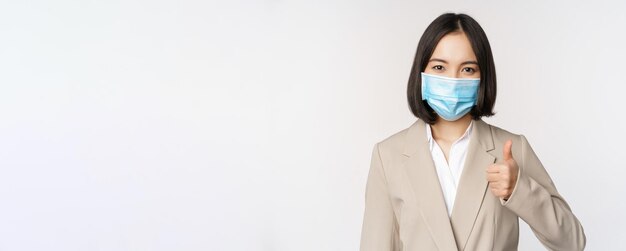
[[398, 225], [391, 206], [387, 179], [383, 170], [378, 144], [365, 188], [365, 214], [361, 229], [361, 251], [399, 250]]

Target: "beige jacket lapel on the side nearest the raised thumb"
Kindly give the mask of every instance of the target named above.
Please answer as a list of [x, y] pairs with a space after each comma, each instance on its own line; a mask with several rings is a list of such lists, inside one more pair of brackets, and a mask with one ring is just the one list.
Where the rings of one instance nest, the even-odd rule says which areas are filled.
[[491, 129], [484, 121], [474, 120], [468, 147], [450, 218], [459, 250], [465, 248], [487, 191], [485, 170], [496, 159], [489, 153], [494, 145]]

